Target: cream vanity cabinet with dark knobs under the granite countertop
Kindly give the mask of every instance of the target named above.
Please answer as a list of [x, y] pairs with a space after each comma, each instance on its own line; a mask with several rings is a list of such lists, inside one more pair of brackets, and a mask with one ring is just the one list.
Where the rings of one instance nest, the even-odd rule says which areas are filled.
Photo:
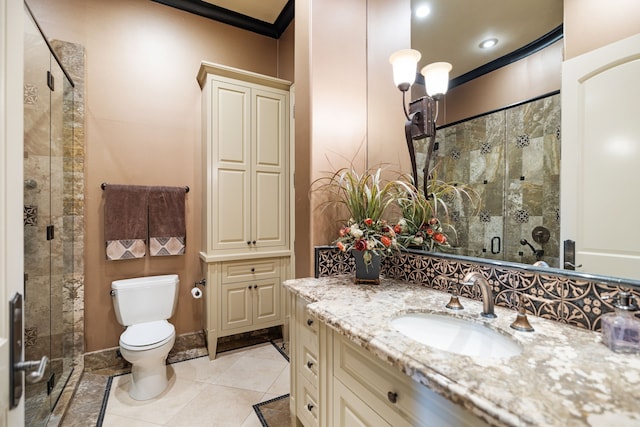
[[318, 321], [304, 298], [289, 298], [290, 409], [303, 426], [487, 426]]

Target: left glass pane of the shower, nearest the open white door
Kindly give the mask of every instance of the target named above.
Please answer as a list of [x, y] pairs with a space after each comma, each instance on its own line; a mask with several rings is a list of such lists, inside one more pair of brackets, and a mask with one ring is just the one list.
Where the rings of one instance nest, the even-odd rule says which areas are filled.
[[[25, 19], [24, 50], [24, 347], [25, 360], [40, 360], [50, 353], [51, 242], [49, 225], [51, 101], [47, 72], [51, 54], [29, 16]], [[51, 411], [44, 379], [25, 384], [25, 423], [46, 424]]]

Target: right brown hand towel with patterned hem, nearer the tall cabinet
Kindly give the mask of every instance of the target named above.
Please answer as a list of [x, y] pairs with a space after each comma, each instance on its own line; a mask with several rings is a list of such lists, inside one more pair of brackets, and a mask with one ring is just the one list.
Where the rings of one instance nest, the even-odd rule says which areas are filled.
[[184, 187], [152, 187], [149, 194], [149, 252], [151, 256], [184, 255]]

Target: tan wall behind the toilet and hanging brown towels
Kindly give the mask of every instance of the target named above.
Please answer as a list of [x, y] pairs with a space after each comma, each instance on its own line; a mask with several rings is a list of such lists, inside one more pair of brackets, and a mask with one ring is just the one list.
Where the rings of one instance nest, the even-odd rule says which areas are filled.
[[[178, 334], [201, 329], [200, 250], [201, 60], [293, 76], [292, 31], [280, 43], [148, 0], [29, 0], [49, 38], [85, 46], [85, 332], [86, 350], [118, 345], [122, 331], [112, 280], [152, 274], [180, 276], [172, 322]], [[105, 260], [100, 184], [187, 185], [184, 256]]]

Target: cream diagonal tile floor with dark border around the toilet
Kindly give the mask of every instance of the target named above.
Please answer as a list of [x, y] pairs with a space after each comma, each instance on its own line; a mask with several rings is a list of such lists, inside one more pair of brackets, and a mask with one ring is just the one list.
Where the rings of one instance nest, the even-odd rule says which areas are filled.
[[[213, 361], [205, 356], [173, 363], [167, 366], [167, 372], [167, 390], [157, 398], [142, 402], [129, 397], [130, 374], [112, 377], [102, 419], [85, 418], [84, 423], [69, 419], [70, 422], [63, 425], [261, 427], [263, 424], [253, 405], [289, 393], [289, 363], [272, 343], [219, 353]], [[102, 387], [104, 394], [107, 381], [102, 377], [96, 379], [97, 385], [91, 393]], [[81, 403], [81, 389], [76, 396], [74, 400], [78, 402], [74, 403]], [[93, 406], [95, 409], [95, 403]], [[266, 412], [269, 427], [289, 425], [283, 415], [288, 408], [272, 411], [273, 408], [265, 405], [260, 409]]]

